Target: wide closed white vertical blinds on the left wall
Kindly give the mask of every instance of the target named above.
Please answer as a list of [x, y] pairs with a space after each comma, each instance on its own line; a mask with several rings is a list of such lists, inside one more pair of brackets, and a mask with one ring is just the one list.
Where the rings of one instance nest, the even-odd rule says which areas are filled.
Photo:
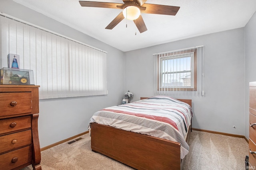
[[106, 52], [0, 15], [0, 66], [20, 55], [20, 68], [33, 70], [39, 97], [65, 98], [107, 94]]

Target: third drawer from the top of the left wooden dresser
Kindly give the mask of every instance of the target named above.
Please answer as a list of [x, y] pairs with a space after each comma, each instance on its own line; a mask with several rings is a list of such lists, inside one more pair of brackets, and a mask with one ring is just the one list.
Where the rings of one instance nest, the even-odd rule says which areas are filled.
[[31, 130], [0, 136], [0, 153], [17, 149], [32, 143]]

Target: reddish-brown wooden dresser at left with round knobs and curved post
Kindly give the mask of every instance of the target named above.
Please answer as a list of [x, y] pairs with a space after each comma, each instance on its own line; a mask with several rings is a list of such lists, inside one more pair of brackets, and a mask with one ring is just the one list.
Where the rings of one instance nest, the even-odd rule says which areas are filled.
[[41, 170], [38, 88], [0, 85], [0, 170]]

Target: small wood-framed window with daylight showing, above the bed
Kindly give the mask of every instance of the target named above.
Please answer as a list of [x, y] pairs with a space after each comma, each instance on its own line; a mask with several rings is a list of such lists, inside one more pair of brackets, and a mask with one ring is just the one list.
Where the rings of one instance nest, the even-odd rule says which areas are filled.
[[158, 66], [158, 90], [196, 91], [196, 49], [160, 54]]

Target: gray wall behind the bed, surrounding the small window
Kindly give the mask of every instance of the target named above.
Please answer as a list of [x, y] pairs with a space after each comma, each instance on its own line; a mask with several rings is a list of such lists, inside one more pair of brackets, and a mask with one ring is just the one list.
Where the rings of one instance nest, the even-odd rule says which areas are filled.
[[[244, 28], [125, 53], [125, 88], [132, 101], [154, 96], [152, 54], [204, 45], [204, 97], [191, 98], [194, 128], [244, 135]], [[234, 129], [232, 126], [235, 125]]]

